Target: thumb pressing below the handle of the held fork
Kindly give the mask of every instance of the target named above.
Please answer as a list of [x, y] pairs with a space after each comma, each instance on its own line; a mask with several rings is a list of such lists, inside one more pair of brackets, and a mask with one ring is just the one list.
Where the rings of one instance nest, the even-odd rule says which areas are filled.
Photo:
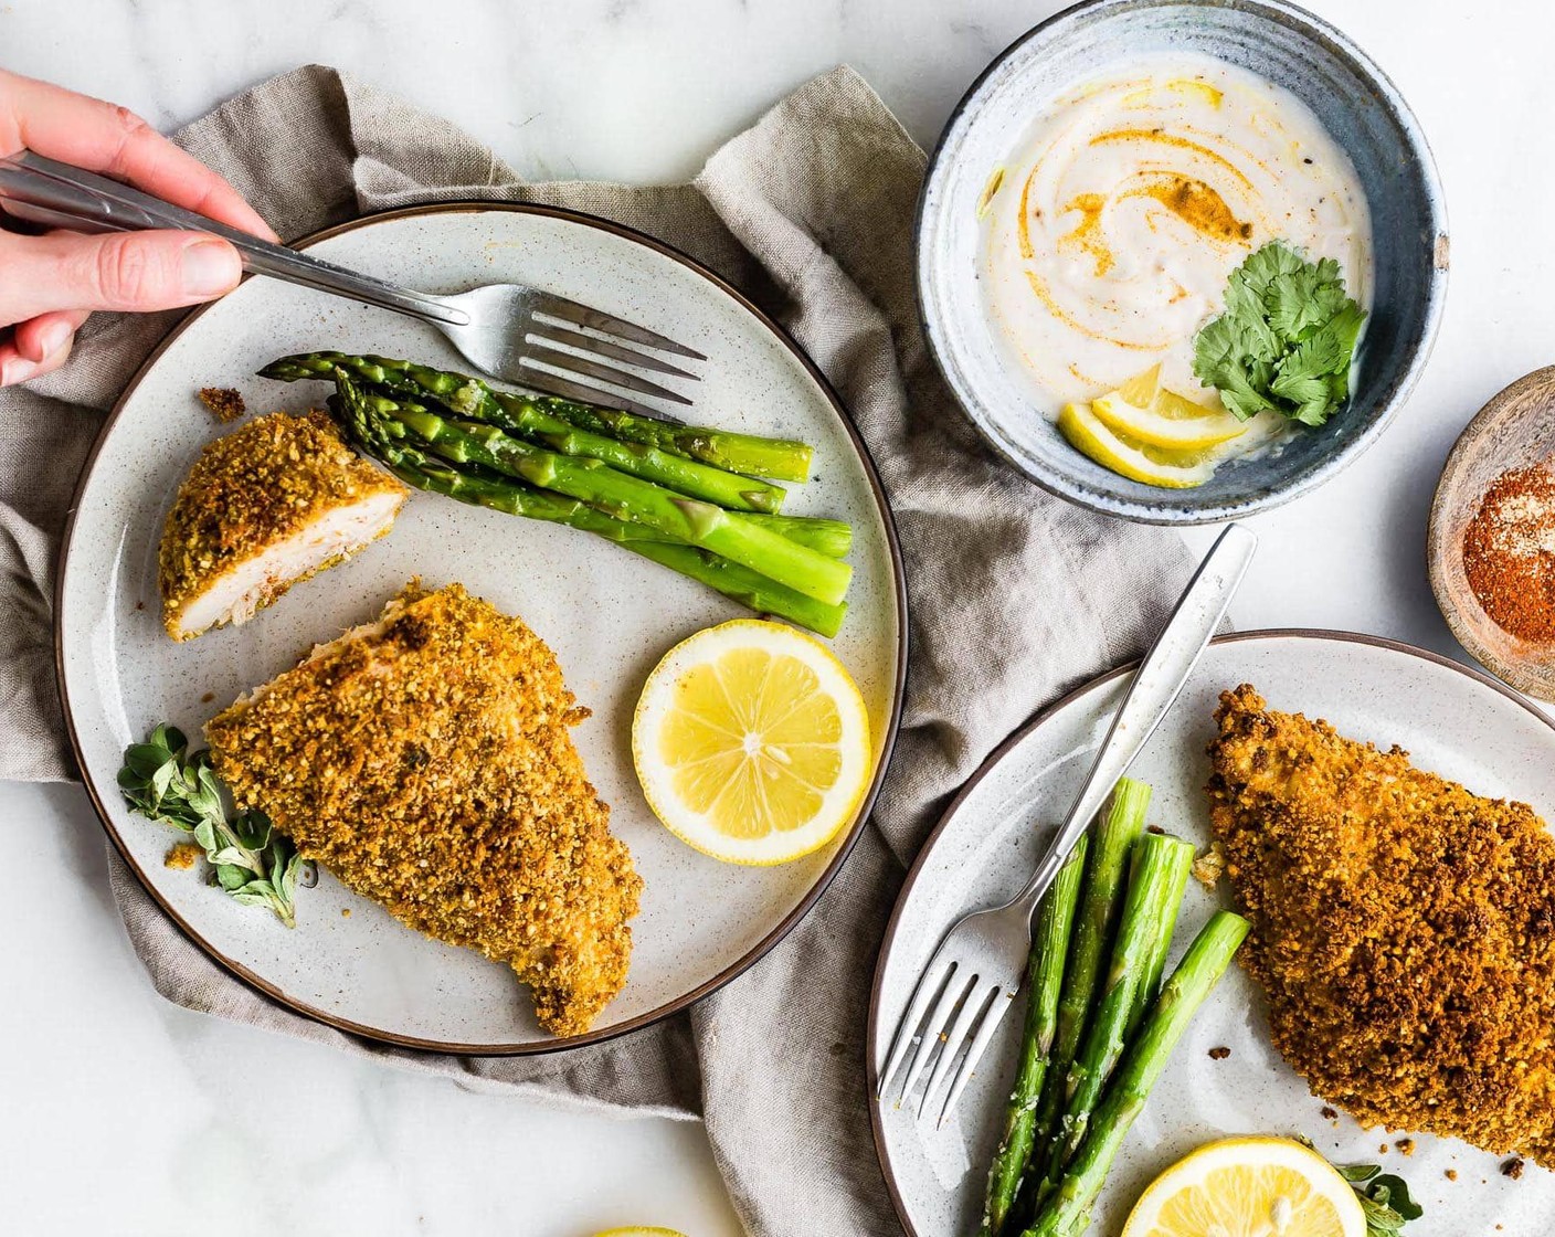
[[0, 233], [0, 322], [51, 310], [176, 310], [243, 275], [238, 251], [199, 232]]

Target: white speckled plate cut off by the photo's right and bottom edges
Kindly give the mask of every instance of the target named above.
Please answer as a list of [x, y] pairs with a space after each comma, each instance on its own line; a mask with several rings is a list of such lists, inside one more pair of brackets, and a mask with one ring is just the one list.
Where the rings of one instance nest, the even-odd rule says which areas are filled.
[[[869, 1091], [913, 985], [933, 946], [966, 910], [995, 906], [1020, 887], [1039, 843], [1079, 789], [1104, 727], [1123, 700], [1116, 671], [1067, 696], [997, 752], [950, 806], [897, 901], [875, 971], [869, 1010]], [[1130, 776], [1155, 787], [1149, 823], [1208, 843], [1216, 697], [1252, 683], [1272, 708], [1323, 717], [1354, 739], [1401, 745], [1421, 769], [1496, 798], [1555, 814], [1552, 724], [1491, 678], [1434, 654], [1339, 632], [1249, 632], [1216, 641]], [[1190, 881], [1174, 946], [1224, 901]], [[911, 1120], [911, 1108], [874, 1105], [875, 1147], [902, 1223], [913, 1237], [967, 1237], [983, 1214], [987, 1164], [1008, 1094], [1019, 1014], [1006, 1018], [986, 1064], [944, 1130]], [[1210, 1058], [1225, 1046], [1230, 1057]], [[1092, 1232], [1113, 1234], [1162, 1169], [1200, 1142], [1228, 1134], [1306, 1134], [1337, 1162], [1384, 1164], [1426, 1209], [1421, 1232], [1544, 1237], [1555, 1215], [1555, 1173], [1529, 1165], [1521, 1181], [1468, 1144], [1415, 1136], [1403, 1156], [1393, 1139], [1348, 1117], [1328, 1120], [1323, 1102], [1269, 1046], [1256, 986], [1239, 968], [1221, 982], [1177, 1046], [1118, 1156]], [[1387, 1144], [1386, 1151], [1379, 1147]], [[1448, 1179], [1454, 1170], [1457, 1179]]]

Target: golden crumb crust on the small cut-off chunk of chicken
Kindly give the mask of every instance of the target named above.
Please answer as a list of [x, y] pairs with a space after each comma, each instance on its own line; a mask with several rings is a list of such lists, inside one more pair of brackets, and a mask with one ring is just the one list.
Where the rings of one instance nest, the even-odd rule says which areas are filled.
[[[183, 630], [185, 608], [263, 551], [341, 507], [375, 495], [403, 503], [407, 493], [397, 478], [351, 451], [325, 412], [271, 412], [207, 443], [162, 531], [159, 583], [168, 635], [199, 635]], [[258, 605], [344, 557], [316, 563], [303, 576], [269, 580]]]

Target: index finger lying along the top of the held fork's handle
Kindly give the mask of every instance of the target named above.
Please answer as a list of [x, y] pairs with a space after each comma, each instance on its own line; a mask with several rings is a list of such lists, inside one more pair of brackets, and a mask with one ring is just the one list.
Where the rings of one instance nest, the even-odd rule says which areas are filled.
[[232, 185], [134, 112], [33, 78], [0, 73], [0, 154], [22, 148], [128, 180], [174, 205], [275, 240]]

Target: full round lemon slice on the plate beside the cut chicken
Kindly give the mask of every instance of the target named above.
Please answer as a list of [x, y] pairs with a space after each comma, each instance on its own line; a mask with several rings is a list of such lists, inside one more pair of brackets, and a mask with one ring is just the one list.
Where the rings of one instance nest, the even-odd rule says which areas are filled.
[[830, 842], [863, 798], [871, 753], [869, 713], [843, 663], [760, 619], [670, 649], [631, 722], [655, 815], [729, 864], [787, 864]]

